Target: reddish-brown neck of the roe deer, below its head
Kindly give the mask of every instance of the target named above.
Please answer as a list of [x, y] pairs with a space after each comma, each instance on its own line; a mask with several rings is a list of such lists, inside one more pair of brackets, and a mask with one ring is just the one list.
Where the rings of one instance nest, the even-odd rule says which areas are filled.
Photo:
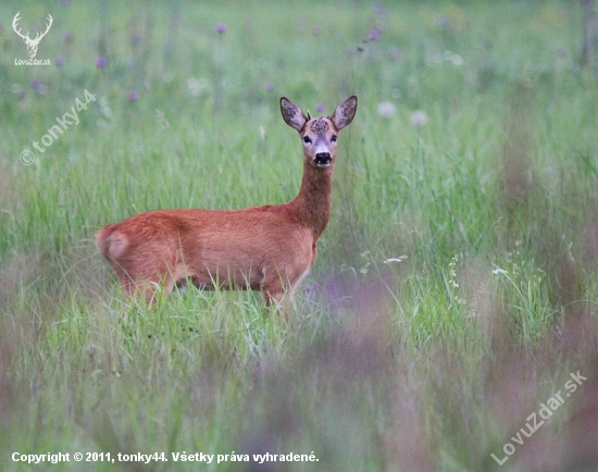
[[331, 219], [333, 165], [319, 169], [303, 163], [301, 187], [290, 202], [298, 221], [313, 229], [315, 239], [324, 232]]

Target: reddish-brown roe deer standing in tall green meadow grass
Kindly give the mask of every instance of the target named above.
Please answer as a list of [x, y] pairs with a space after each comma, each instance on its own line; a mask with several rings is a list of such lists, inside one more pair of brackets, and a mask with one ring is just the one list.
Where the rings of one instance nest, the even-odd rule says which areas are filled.
[[283, 119], [299, 132], [303, 178], [283, 204], [241, 210], [155, 210], [109, 224], [96, 246], [123, 289], [140, 290], [148, 303], [163, 284], [167, 293], [188, 280], [205, 289], [261, 290], [267, 307], [285, 308], [313, 266], [317, 238], [328, 223], [337, 134], [353, 120], [357, 97], [332, 116], [312, 119], [285, 97]]

